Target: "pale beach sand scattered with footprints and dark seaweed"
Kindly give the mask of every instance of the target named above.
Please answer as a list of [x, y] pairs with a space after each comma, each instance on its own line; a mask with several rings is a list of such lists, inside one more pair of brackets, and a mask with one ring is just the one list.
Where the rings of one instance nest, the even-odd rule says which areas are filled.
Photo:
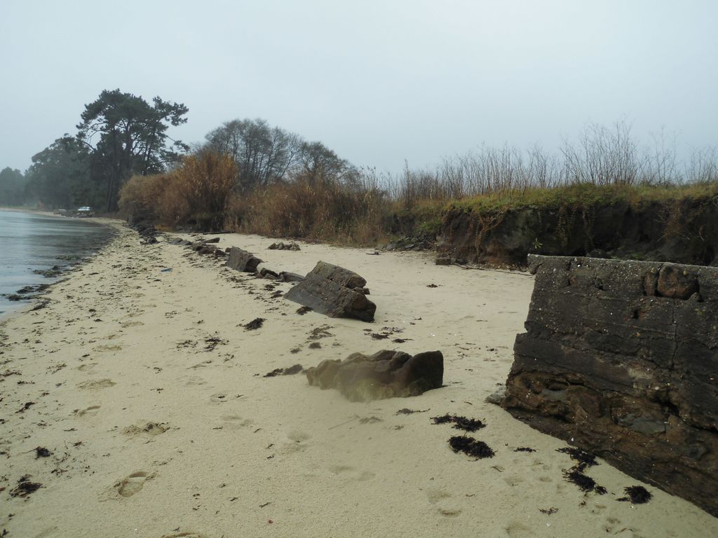
[[[708, 537], [718, 519], [607, 463], [564, 481], [565, 443], [484, 402], [504, 382], [533, 278], [381, 253], [222, 235], [271, 268], [317, 260], [355, 270], [378, 305], [365, 324], [309, 312], [175, 245], [121, 228], [51, 288], [4, 318], [0, 347], [0, 532], [14, 537]], [[171, 269], [171, 270], [165, 270]], [[429, 287], [436, 285], [436, 287]], [[264, 318], [260, 329], [243, 324]], [[323, 335], [312, 339], [314, 334]], [[377, 340], [370, 334], [388, 334]], [[405, 339], [394, 343], [393, 339]], [[310, 348], [310, 344], [320, 347]], [[445, 387], [348, 402], [304, 375], [264, 377], [353, 351], [444, 354]], [[416, 410], [397, 414], [401, 409]], [[482, 420], [493, 458], [452, 452], [445, 413]], [[36, 458], [36, 448], [51, 455]], [[519, 447], [535, 452], [516, 452]], [[20, 478], [42, 487], [11, 496]], [[543, 510], [543, 511], [542, 511]]]

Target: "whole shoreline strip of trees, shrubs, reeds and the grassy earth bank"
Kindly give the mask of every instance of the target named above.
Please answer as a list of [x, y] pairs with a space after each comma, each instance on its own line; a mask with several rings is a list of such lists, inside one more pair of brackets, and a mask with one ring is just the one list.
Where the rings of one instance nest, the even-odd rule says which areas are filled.
[[383, 174], [260, 119], [227, 121], [190, 148], [169, 136], [187, 113], [104, 91], [76, 136], [24, 175], [0, 172], [0, 203], [91, 206], [165, 230], [436, 245], [465, 263], [524, 265], [528, 253], [718, 263], [716, 149], [679, 159], [666, 136], [642, 146], [625, 121], [589, 124], [556, 152], [482, 146]]

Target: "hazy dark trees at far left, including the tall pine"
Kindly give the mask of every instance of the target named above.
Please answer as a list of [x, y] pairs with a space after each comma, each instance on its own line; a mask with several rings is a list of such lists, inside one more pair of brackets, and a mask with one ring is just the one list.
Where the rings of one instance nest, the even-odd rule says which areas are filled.
[[75, 136], [65, 133], [35, 154], [24, 176], [10, 171], [11, 181], [0, 178], [0, 204], [47, 209], [89, 205], [115, 211], [127, 179], [165, 171], [189, 150], [167, 134], [169, 126], [187, 121], [185, 114], [185, 105], [159, 97], [147, 103], [130, 93], [105, 90], [85, 105]]

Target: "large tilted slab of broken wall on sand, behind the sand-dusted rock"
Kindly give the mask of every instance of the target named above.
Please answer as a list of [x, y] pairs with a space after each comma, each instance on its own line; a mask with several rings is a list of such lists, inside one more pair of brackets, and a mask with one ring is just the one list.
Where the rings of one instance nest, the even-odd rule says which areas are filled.
[[284, 298], [330, 318], [373, 321], [376, 304], [366, 297], [366, 280], [331, 263], [319, 262]]

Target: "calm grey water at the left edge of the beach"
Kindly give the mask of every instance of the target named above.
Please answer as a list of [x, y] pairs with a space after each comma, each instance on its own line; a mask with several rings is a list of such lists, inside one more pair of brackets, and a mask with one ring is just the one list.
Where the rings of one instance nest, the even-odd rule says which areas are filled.
[[[54, 282], [57, 278], [45, 278], [33, 270], [77, 263], [105, 245], [112, 235], [110, 227], [81, 219], [0, 209], [0, 294]], [[0, 314], [23, 306], [27, 301], [8, 301], [0, 296]]]

